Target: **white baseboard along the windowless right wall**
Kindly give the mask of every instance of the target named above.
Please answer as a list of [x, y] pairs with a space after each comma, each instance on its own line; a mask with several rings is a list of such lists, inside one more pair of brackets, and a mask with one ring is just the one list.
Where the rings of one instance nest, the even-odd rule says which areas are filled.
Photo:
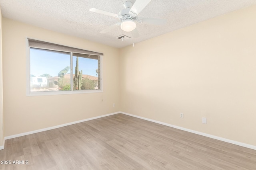
[[154, 123], [158, 123], [158, 124], [161, 124], [161, 125], [166, 125], [166, 126], [169, 126], [169, 127], [173, 127], [175, 129], [180, 129], [182, 131], [187, 131], [187, 132], [195, 133], [197, 135], [201, 135], [201, 136], [205, 136], [205, 137], [210, 137], [212, 139], [217, 139], [219, 141], [224, 141], [224, 142], [231, 143], [231, 144], [234, 144], [234, 145], [238, 145], [238, 146], [241, 146], [241, 147], [246, 147], [246, 148], [249, 148], [249, 149], [256, 150], [256, 146], [249, 145], [247, 143], [233, 141], [233, 140], [230, 140], [230, 139], [226, 139], [226, 138], [210, 135], [210, 134], [207, 134], [207, 133], [202, 133], [202, 132], [199, 132], [199, 131], [194, 131], [194, 130], [191, 130], [191, 129], [186, 129], [184, 127], [180, 127], [180, 126], [176, 126], [176, 125], [171, 125], [171, 124], [168, 124], [168, 123], [164, 123], [164, 122], [161, 122], [161, 121], [156, 121], [156, 120], [153, 120], [153, 119], [148, 119], [148, 118], [137, 116], [137, 115], [132, 115], [132, 114], [125, 113], [125, 112], [122, 112], [122, 111], [120, 113], [125, 114], [125, 115], [129, 115], [129, 116], [132, 116], [132, 117], [137, 117], [137, 118], [140, 118], [140, 119], [144, 119], [144, 120], [147, 120], [147, 121], [152, 121]]

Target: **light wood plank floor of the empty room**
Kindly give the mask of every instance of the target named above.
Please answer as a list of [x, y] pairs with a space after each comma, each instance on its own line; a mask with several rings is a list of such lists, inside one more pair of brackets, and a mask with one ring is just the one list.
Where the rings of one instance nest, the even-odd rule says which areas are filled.
[[1, 170], [256, 170], [256, 150], [124, 114], [8, 139], [0, 160], [24, 160]]

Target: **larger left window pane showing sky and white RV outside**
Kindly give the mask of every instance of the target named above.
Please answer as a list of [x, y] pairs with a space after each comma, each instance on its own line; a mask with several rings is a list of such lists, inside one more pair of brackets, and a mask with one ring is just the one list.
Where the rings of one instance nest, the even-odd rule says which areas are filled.
[[30, 48], [30, 92], [70, 90], [70, 53]]

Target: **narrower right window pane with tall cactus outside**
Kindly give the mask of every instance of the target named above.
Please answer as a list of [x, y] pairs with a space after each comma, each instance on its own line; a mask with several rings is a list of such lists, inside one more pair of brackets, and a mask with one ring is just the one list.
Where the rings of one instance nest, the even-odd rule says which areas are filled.
[[73, 90], [100, 89], [100, 56], [73, 53]]

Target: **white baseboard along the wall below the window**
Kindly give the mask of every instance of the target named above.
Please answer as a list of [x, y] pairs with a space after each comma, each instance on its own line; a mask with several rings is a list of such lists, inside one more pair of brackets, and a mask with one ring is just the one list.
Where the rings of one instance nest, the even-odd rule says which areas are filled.
[[96, 116], [96, 117], [92, 117], [92, 118], [88, 118], [88, 119], [83, 119], [83, 120], [79, 120], [79, 121], [73, 121], [73, 122], [70, 122], [70, 123], [62, 124], [62, 125], [47, 127], [47, 128], [44, 128], [44, 129], [38, 129], [38, 130], [35, 130], [35, 131], [20, 133], [20, 134], [16, 134], [16, 135], [10, 135], [10, 136], [4, 137], [3, 145], [0, 146], [0, 150], [4, 149], [4, 142], [7, 139], [12, 139], [12, 138], [15, 138], [15, 137], [21, 137], [21, 136], [30, 135], [30, 134], [33, 134], [33, 133], [48, 131], [48, 130], [56, 129], [56, 128], [59, 128], [59, 127], [64, 127], [64, 126], [73, 125], [73, 124], [76, 124], [76, 123], [81, 123], [81, 122], [84, 122], [84, 121], [89, 121], [89, 120], [98, 119], [98, 118], [101, 118], [101, 117], [115, 115], [117, 113], [120, 113], [120, 112], [115, 112], [115, 113], [110, 113], [110, 114], [106, 114], [106, 115]]

